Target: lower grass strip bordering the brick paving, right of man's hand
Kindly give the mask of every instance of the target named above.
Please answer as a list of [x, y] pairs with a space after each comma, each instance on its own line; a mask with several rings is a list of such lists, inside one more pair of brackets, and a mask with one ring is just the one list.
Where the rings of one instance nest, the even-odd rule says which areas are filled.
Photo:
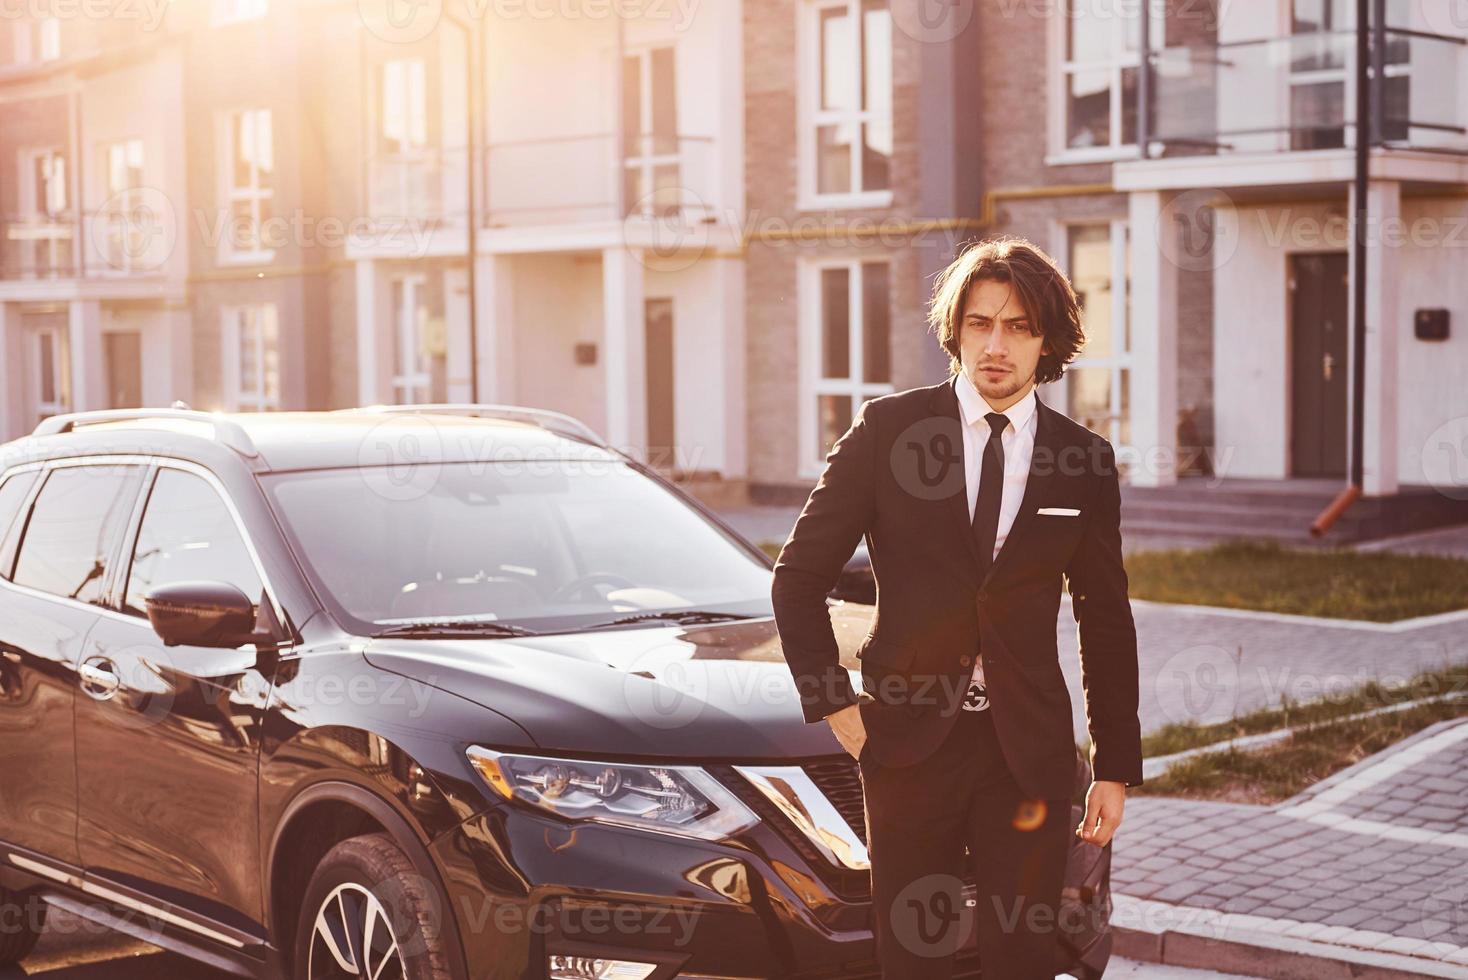
[[1468, 691], [1468, 665], [1420, 673], [1400, 688], [1368, 684], [1348, 697], [1284, 704], [1240, 716], [1226, 725], [1169, 725], [1142, 739], [1144, 756], [1166, 756], [1280, 728], [1304, 728], [1264, 748], [1195, 756], [1171, 766], [1161, 776], [1144, 780], [1130, 792], [1226, 802], [1279, 802], [1428, 725], [1468, 716], [1468, 698], [1436, 701], [1355, 720], [1339, 719], [1447, 691]]

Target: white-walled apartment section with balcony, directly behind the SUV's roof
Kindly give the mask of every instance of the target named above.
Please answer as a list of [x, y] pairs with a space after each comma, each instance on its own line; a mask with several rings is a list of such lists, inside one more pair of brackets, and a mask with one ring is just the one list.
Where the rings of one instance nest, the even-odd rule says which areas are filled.
[[550, 408], [722, 480], [746, 465], [738, 4], [614, 12], [482, 4], [332, 53], [371, 226], [333, 277], [333, 401]]

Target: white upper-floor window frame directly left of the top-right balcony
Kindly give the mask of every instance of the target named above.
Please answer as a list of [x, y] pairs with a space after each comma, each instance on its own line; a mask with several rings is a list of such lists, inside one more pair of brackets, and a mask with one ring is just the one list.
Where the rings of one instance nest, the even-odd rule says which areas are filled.
[[[1060, 15], [1047, 18], [1050, 29], [1050, 153], [1045, 164], [1066, 163], [1105, 163], [1114, 160], [1135, 160], [1141, 157], [1141, 148], [1135, 142], [1122, 142], [1122, 70], [1141, 67], [1141, 51], [1127, 51], [1124, 45], [1124, 31], [1136, 29], [1141, 22], [1141, 0], [1133, 3], [1108, 4], [1116, 12], [1111, 18], [1113, 56], [1098, 62], [1072, 62], [1066, 57], [1066, 26], [1072, 19], [1070, 4], [1073, 0], [1061, 0]], [[1152, 50], [1160, 51], [1167, 40], [1166, 0], [1149, 0], [1152, 4]], [[1132, 13], [1127, 18], [1124, 13]], [[1066, 131], [1069, 129], [1070, 111], [1070, 76], [1076, 72], [1107, 69], [1111, 75], [1111, 131], [1110, 142], [1104, 147], [1069, 147]]]

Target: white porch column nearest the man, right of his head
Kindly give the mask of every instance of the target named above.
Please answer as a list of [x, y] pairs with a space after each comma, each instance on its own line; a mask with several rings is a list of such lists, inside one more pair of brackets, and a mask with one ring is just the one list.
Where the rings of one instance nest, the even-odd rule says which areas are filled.
[[[1179, 229], [1160, 191], [1127, 198], [1132, 227], [1132, 445], [1130, 483], [1177, 483], [1177, 266]], [[1117, 450], [1122, 452], [1120, 449]]]

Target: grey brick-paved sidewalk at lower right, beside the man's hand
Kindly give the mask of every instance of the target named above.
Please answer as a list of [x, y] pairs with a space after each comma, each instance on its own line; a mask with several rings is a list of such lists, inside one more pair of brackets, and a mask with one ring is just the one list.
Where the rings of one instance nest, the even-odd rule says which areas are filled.
[[1468, 977], [1468, 719], [1271, 807], [1130, 798], [1114, 848], [1119, 926]]

